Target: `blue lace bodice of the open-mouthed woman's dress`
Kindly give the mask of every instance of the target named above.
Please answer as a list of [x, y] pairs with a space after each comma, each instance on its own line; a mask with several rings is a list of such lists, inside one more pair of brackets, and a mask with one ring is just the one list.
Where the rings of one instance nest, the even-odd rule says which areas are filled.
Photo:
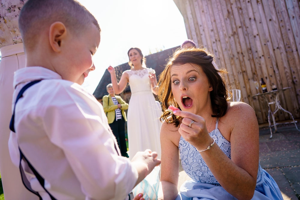
[[[231, 159], [231, 146], [230, 142], [226, 140], [220, 133], [218, 126], [218, 120], [216, 123], [216, 129], [211, 131], [209, 135], [214, 138], [215, 145], [218, 145], [224, 154]], [[187, 175], [197, 183], [209, 183], [220, 186], [217, 179], [212, 172], [208, 169], [208, 166], [204, 162], [201, 154], [190, 143], [186, 142], [183, 137], [179, 140], [179, 151], [181, 164]], [[262, 184], [265, 181], [264, 173], [259, 164], [256, 186]]]

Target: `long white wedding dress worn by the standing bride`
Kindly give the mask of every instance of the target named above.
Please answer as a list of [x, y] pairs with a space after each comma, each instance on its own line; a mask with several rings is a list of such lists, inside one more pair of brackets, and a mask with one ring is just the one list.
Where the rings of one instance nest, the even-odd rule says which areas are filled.
[[127, 133], [129, 158], [138, 151], [151, 149], [161, 158], [159, 132], [161, 128], [161, 107], [155, 101], [151, 91], [149, 72], [151, 68], [142, 70], [126, 70], [129, 76], [131, 97], [127, 112]]

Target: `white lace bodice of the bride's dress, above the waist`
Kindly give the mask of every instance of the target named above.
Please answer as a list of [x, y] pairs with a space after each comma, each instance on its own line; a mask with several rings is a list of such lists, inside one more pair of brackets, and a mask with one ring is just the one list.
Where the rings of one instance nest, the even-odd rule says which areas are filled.
[[142, 70], [126, 70], [123, 72], [129, 76], [131, 94], [144, 91], [152, 92], [149, 79], [149, 72], [151, 71], [152, 68], [144, 68]]

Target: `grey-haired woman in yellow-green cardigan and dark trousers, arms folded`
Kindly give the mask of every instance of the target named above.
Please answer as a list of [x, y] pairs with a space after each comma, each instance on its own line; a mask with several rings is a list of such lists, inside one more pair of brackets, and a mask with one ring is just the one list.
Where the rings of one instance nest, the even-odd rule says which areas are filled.
[[128, 103], [120, 96], [115, 95], [113, 84], [108, 84], [106, 90], [108, 95], [105, 95], [102, 98], [103, 109], [106, 113], [108, 124], [110, 125], [113, 134], [116, 136], [121, 155], [128, 157], [125, 141], [125, 122], [127, 121], [127, 118], [124, 111], [128, 109]]

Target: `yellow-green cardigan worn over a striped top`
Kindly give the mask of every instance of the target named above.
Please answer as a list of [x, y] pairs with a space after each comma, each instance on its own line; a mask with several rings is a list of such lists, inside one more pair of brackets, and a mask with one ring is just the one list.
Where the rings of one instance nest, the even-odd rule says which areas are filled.
[[[115, 97], [118, 100], [118, 102], [121, 104], [121, 108], [120, 108], [121, 113], [122, 113], [125, 121], [127, 121], [126, 113], [124, 110], [128, 109], [128, 103], [126, 103], [120, 96], [115, 95]], [[115, 110], [118, 109], [118, 105], [113, 104], [113, 99], [110, 95], [105, 95], [102, 98], [102, 102], [103, 102], [103, 109], [107, 116], [108, 123], [111, 124], [115, 120], [115, 117], [116, 117]]]

